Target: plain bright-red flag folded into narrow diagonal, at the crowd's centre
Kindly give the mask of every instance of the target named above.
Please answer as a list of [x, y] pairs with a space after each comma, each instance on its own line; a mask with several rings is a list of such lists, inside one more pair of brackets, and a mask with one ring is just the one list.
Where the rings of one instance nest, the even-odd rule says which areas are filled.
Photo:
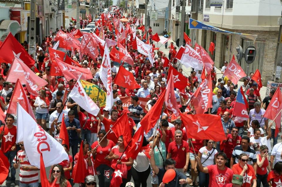
[[162, 92], [162, 94], [160, 95], [159, 99], [154, 104], [154, 106], [149, 110], [146, 116], [140, 121], [140, 124], [144, 128], [146, 134], [151, 130], [151, 128], [153, 128], [156, 125], [157, 121], [160, 118], [162, 112], [162, 106], [164, 104], [165, 92], [166, 90]]

